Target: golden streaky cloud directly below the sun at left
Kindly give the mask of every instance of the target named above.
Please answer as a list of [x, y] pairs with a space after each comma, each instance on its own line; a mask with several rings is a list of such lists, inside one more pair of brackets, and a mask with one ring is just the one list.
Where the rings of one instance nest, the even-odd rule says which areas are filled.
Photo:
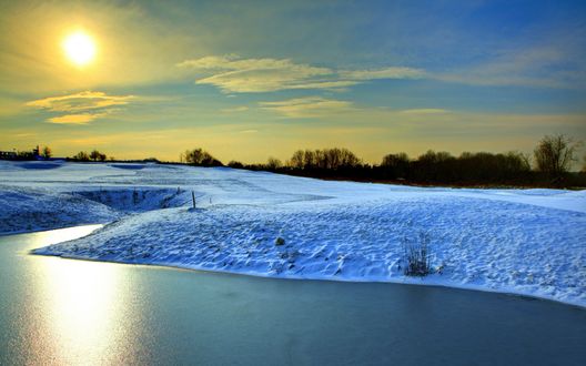
[[99, 118], [111, 114], [117, 109], [128, 104], [134, 95], [108, 95], [104, 92], [83, 91], [75, 94], [49, 96], [27, 102], [27, 106], [48, 112], [64, 112], [67, 114], [47, 119], [50, 123], [87, 124]]

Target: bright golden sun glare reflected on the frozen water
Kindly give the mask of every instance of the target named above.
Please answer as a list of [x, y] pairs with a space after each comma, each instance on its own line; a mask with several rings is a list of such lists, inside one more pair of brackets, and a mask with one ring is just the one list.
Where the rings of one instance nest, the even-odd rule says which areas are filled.
[[[94, 227], [95, 228], [95, 227]], [[71, 232], [73, 231], [73, 232]], [[54, 231], [42, 237], [42, 246], [89, 234], [92, 230], [78, 227]], [[124, 332], [137, 319], [128, 301], [132, 288], [128, 271], [110, 263], [42, 257], [36, 261], [38, 292], [36, 301], [44, 313], [42, 332], [51, 335], [46, 345], [49, 356], [58, 364], [93, 365], [131, 362], [127, 354]], [[135, 314], [134, 314], [135, 315]], [[31, 346], [34, 346], [32, 340]], [[48, 347], [47, 347], [48, 346]]]

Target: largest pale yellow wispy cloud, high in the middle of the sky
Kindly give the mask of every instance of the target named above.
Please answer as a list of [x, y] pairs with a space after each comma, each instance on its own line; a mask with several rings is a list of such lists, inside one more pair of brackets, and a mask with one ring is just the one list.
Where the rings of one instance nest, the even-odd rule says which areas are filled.
[[225, 93], [272, 92], [293, 89], [339, 90], [375, 79], [415, 79], [425, 72], [412, 68], [334, 70], [295, 63], [289, 59], [240, 59], [235, 55], [204, 57], [178, 63], [203, 75], [196, 84], [210, 84]]

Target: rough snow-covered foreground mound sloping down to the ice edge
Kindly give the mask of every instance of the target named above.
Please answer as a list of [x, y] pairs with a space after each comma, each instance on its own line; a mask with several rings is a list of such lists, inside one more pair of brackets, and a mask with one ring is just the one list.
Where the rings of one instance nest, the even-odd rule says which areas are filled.
[[[431, 240], [435, 274], [413, 279], [403, 274], [404, 243], [421, 233]], [[150, 212], [34, 253], [289, 278], [443, 284], [586, 305], [585, 237], [585, 214], [443, 197]]]

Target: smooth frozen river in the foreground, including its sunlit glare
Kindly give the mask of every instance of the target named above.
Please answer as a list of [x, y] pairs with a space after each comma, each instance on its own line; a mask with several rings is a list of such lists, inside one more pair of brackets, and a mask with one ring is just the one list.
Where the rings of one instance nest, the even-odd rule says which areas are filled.
[[0, 236], [0, 365], [586, 364], [548, 301], [28, 254], [95, 227]]

